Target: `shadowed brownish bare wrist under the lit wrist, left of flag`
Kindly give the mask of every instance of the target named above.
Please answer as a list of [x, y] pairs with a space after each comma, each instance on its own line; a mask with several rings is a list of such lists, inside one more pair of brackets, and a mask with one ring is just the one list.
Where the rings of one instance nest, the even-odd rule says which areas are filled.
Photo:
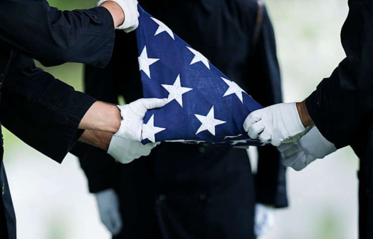
[[85, 130], [79, 138], [79, 142], [87, 143], [107, 151], [112, 136], [113, 134], [108, 132]]

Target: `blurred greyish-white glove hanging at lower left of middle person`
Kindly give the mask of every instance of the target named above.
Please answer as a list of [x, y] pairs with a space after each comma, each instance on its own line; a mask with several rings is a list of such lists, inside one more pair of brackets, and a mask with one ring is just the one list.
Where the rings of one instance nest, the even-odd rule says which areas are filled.
[[119, 211], [119, 199], [114, 189], [107, 189], [95, 194], [102, 223], [113, 234], [122, 230], [122, 217]]

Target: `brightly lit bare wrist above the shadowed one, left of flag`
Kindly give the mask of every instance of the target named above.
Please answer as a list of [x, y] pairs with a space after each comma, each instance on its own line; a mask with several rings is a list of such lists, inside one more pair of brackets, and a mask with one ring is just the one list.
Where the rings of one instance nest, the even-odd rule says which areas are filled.
[[121, 120], [120, 111], [116, 106], [96, 102], [84, 115], [79, 128], [116, 133]]

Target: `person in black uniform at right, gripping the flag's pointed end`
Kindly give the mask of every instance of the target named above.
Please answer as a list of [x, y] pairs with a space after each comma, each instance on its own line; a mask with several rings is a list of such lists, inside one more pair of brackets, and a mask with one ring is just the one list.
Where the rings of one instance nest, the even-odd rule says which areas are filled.
[[[370, 239], [373, 238], [373, 1], [349, 0], [348, 6], [341, 31], [346, 57], [331, 75], [303, 102], [277, 104], [252, 112], [244, 128], [250, 137], [258, 136], [263, 142], [279, 146], [284, 163], [296, 170], [350, 145], [360, 158], [359, 237]], [[299, 139], [309, 127], [313, 128]]]

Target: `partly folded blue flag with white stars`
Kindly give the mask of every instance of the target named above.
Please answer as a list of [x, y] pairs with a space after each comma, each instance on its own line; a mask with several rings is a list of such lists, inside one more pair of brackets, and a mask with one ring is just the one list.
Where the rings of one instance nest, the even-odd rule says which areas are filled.
[[138, 63], [144, 98], [168, 98], [146, 113], [142, 143], [173, 141], [261, 145], [243, 128], [261, 109], [235, 82], [138, 6]]

